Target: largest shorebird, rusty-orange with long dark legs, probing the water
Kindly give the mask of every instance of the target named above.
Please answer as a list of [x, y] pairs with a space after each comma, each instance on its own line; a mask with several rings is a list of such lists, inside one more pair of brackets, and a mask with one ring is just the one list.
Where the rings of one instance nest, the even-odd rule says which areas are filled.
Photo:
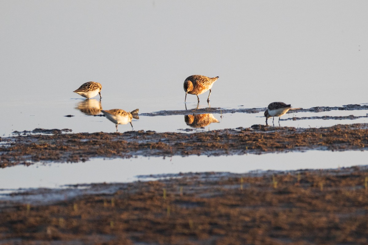
[[219, 78], [209, 78], [207, 76], [202, 75], [192, 75], [188, 76], [184, 81], [184, 91], [185, 91], [185, 101], [187, 101], [187, 94], [195, 94], [198, 98], [198, 94], [203, 94], [207, 90], [209, 90], [207, 102], [209, 102], [209, 95], [211, 94], [211, 88], [213, 83]]

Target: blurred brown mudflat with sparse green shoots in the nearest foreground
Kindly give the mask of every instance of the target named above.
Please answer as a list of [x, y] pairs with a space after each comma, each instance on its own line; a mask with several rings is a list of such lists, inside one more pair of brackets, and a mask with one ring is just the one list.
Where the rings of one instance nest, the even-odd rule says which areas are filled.
[[367, 176], [364, 166], [179, 174], [64, 190], [47, 205], [1, 201], [0, 244], [367, 244]]

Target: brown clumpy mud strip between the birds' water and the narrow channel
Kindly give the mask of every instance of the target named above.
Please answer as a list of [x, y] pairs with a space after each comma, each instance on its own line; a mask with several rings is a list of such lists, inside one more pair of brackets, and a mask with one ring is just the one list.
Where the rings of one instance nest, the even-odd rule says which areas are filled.
[[[59, 133], [1, 138], [0, 166], [38, 161], [79, 162], [92, 157], [241, 155], [266, 152], [363, 150], [368, 147], [368, 125], [336, 125], [297, 129], [253, 125], [196, 133]], [[43, 133], [48, 130], [42, 130]]]

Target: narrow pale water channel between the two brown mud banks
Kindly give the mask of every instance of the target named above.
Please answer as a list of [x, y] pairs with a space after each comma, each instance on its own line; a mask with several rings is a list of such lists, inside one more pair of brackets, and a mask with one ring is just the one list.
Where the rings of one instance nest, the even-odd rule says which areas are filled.
[[76, 183], [118, 183], [154, 179], [154, 176], [139, 177], [151, 174], [330, 169], [367, 165], [367, 157], [367, 151], [307, 151], [216, 157], [146, 158], [139, 156], [131, 159], [91, 159], [84, 163], [37, 163], [31, 166], [18, 165], [1, 169], [0, 193], [17, 191], [18, 188], [61, 188], [63, 185]]

